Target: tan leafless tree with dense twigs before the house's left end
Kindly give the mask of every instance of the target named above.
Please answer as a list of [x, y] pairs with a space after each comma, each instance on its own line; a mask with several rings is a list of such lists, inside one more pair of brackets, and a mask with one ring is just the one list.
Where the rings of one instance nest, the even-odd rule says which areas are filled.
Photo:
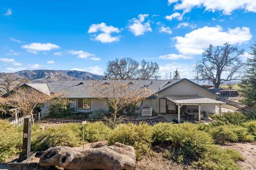
[[0, 98], [0, 103], [19, 109], [22, 116], [30, 115], [34, 123], [33, 112], [38, 107], [38, 104], [48, 102], [60, 95], [62, 94], [46, 95], [34, 88], [21, 87], [13, 90], [6, 97]]

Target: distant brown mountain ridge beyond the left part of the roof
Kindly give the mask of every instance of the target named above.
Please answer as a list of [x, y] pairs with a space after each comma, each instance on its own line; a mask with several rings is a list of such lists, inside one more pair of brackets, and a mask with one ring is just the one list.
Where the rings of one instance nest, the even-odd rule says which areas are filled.
[[102, 79], [104, 77], [91, 72], [76, 70], [23, 70], [14, 74], [27, 78], [33, 83], [48, 83], [56, 80]]

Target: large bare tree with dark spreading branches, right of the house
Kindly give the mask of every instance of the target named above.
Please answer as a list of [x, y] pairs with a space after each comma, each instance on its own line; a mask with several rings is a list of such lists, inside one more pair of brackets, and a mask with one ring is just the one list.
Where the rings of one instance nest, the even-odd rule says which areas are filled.
[[221, 82], [238, 79], [237, 73], [244, 65], [239, 56], [243, 54], [244, 50], [239, 50], [229, 43], [215, 47], [210, 45], [203, 52], [202, 60], [199, 60], [195, 66], [195, 71], [199, 74], [197, 78], [208, 80], [217, 88]]

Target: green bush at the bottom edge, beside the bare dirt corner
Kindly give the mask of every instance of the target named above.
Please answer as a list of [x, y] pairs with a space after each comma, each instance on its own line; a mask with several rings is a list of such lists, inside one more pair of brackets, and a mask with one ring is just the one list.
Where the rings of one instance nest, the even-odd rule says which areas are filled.
[[241, 170], [236, 164], [237, 160], [243, 160], [243, 157], [237, 151], [222, 149], [217, 145], [209, 145], [202, 158], [193, 165], [204, 170]]

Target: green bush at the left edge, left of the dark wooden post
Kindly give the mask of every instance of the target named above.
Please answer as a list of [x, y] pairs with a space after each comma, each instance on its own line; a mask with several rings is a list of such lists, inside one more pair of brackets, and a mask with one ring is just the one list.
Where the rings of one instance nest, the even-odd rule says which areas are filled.
[[0, 120], [0, 162], [16, 155], [22, 145], [22, 133], [7, 120]]

